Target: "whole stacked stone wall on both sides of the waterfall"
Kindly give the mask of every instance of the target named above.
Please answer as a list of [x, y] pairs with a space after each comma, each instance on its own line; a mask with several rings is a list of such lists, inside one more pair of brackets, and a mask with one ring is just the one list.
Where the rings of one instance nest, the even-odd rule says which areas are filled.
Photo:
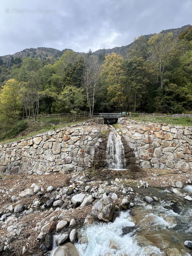
[[[128, 168], [192, 169], [192, 127], [128, 118], [118, 123]], [[0, 145], [0, 173], [41, 175], [105, 167], [109, 132], [103, 119], [96, 118]]]

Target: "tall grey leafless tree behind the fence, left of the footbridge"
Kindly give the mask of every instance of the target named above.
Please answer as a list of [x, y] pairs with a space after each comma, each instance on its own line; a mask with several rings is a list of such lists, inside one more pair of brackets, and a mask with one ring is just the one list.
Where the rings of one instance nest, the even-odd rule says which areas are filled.
[[95, 105], [95, 93], [98, 91], [98, 76], [100, 64], [97, 56], [90, 55], [85, 59], [85, 68], [83, 76], [83, 87], [86, 92], [87, 106], [89, 107], [89, 116], [92, 118]]

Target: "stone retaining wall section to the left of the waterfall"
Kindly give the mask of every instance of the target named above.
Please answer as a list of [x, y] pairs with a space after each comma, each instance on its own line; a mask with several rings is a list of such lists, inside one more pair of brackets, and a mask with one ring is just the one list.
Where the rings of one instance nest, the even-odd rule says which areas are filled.
[[102, 157], [98, 151], [106, 140], [104, 129], [103, 118], [97, 118], [0, 145], [0, 173], [41, 175], [92, 167], [95, 156]]

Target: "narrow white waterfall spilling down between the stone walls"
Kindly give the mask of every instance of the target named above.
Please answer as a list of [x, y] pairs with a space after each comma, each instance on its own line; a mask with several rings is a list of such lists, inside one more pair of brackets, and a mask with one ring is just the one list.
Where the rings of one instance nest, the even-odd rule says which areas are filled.
[[106, 162], [110, 169], [123, 169], [125, 166], [124, 147], [120, 135], [113, 126], [107, 142]]

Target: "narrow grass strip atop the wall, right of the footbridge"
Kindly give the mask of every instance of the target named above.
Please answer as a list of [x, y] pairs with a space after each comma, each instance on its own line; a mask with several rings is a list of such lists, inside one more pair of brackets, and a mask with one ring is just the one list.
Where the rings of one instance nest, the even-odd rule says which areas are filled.
[[137, 116], [131, 117], [132, 120], [137, 120], [140, 122], [150, 122], [158, 124], [173, 124], [173, 125], [183, 125], [192, 127], [192, 118], [190, 117], [148, 117], [148, 116]]

